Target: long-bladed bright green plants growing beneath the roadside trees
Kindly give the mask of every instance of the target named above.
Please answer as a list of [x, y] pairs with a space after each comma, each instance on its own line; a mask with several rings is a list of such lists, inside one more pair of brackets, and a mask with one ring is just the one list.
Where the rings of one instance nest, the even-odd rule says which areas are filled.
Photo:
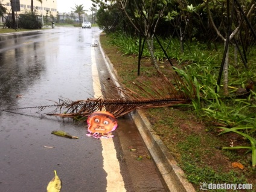
[[[138, 39], [124, 33], [109, 34], [110, 44], [118, 46], [123, 54], [138, 55]], [[222, 60], [222, 45], [217, 50], [208, 50], [205, 45], [199, 42], [190, 42], [190, 49], [181, 53], [179, 39], [160, 39], [161, 44], [166, 48], [166, 52], [171, 59], [176, 59], [175, 71], [183, 78], [187, 85], [187, 91], [196, 88], [196, 97], [192, 99], [191, 107], [198, 117], [213, 120], [224, 127], [220, 134], [234, 132], [248, 141], [248, 146], [237, 146], [232, 149], [249, 149], [252, 152], [252, 167], [256, 167], [256, 93], [246, 98], [239, 98], [235, 95], [238, 88], [245, 88], [248, 79], [255, 79], [255, 47], [251, 48], [248, 55], [248, 69], [243, 68], [242, 61], [235, 64], [232, 57], [229, 57], [230, 96], [223, 97], [220, 86], [217, 86], [217, 75], [219, 73], [220, 62]], [[158, 43], [154, 42], [154, 53], [156, 58], [164, 59], [164, 54]], [[234, 54], [234, 48], [230, 48], [230, 55]], [[145, 46], [143, 56], [149, 57], [149, 51]], [[216, 88], [216, 90], [214, 90]], [[184, 90], [183, 90], [184, 91]], [[248, 128], [249, 127], [249, 128]], [[239, 131], [238, 131], [239, 130]], [[251, 144], [251, 146], [250, 146]], [[223, 147], [230, 149], [230, 147]]]

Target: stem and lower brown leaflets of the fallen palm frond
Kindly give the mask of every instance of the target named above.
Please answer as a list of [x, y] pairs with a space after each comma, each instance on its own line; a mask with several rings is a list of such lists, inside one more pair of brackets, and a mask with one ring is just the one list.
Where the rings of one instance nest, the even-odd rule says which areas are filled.
[[[63, 101], [63, 100], [62, 100]], [[61, 114], [51, 113], [48, 115], [57, 115], [60, 117], [87, 117], [92, 112], [97, 110], [107, 110], [114, 117], [120, 117], [125, 114], [129, 114], [135, 109], [147, 109], [150, 107], [166, 107], [174, 106], [176, 104], [189, 103], [190, 100], [186, 99], [173, 99], [166, 98], [162, 100], [126, 100], [125, 98], [114, 99], [103, 99], [103, 98], [88, 98], [88, 100], [79, 101], [63, 101], [62, 107], [65, 107], [66, 111]]]

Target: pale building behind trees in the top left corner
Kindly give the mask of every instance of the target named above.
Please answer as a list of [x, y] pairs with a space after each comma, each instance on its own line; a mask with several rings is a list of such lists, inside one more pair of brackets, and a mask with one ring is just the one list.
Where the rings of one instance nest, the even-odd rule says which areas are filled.
[[[7, 14], [5, 14], [5, 18], [7, 18], [8, 14], [11, 14], [11, 2], [10, 0], [2, 0], [1, 2], [2, 5], [4, 5], [4, 7], [7, 8]], [[13, 0], [13, 2], [16, 5], [18, 5], [19, 2], [20, 11], [17, 11], [18, 14], [22, 14], [25, 13], [25, 11], [31, 10], [31, 0]], [[49, 17], [50, 14], [53, 14], [54, 18], [57, 17], [57, 0], [43, 0], [42, 4], [39, 1], [34, 0], [33, 4], [34, 11], [36, 10], [37, 14], [42, 15], [43, 13], [43, 16], [45, 16], [46, 10], [48, 10]], [[4, 21], [5, 19], [0, 17], [0, 22]]]

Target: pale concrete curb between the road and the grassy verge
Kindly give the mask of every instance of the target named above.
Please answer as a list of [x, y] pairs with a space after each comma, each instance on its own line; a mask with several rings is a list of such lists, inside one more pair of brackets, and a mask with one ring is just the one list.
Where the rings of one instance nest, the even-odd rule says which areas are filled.
[[[104, 61], [107, 65], [107, 69], [109, 70], [110, 75], [112, 76], [112, 79], [117, 86], [120, 86], [118, 83], [117, 71], [101, 48], [100, 40], [99, 45], [101, 54], [103, 54]], [[150, 155], [155, 161], [155, 164], [158, 167], [158, 170], [162, 175], [162, 178], [164, 179], [168, 189], [171, 192], [196, 191], [193, 185], [190, 184], [187, 179], [185, 179], [184, 171], [182, 171], [182, 169], [178, 166], [178, 163], [175, 161], [171, 153], [168, 152], [167, 147], [165, 147], [159, 136], [156, 135], [155, 131], [152, 129], [151, 124], [149, 123], [149, 120], [147, 120], [147, 117], [142, 112], [142, 110], [135, 110], [134, 112], [131, 112], [130, 117], [132, 117], [133, 121], [138, 127], [139, 133], [141, 134], [142, 139], [150, 152]]]

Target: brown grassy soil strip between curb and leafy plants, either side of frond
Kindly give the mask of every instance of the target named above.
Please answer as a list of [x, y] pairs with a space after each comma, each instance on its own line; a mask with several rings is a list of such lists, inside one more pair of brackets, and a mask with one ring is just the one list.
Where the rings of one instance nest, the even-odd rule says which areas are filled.
[[[107, 38], [101, 34], [101, 46], [117, 70], [121, 83], [132, 88], [129, 81], [156, 75], [150, 59], [142, 58], [141, 75], [138, 76], [138, 57], [124, 56], [117, 47], [109, 45]], [[175, 60], [171, 62], [176, 65]], [[159, 62], [159, 66], [167, 77], [173, 73], [167, 61]], [[256, 190], [256, 170], [251, 166], [251, 154], [245, 155], [245, 150], [221, 148], [249, 146], [244, 138], [235, 133], [218, 136], [220, 129], [216, 127], [222, 125], [200, 118], [189, 106], [145, 109], [144, 113], [197, 191], [200, 191], [201, 182], [253, 184], [254, 190], [248, 191]], [[239, 162], [243, 168], [234, 167], [234, 162]]]

